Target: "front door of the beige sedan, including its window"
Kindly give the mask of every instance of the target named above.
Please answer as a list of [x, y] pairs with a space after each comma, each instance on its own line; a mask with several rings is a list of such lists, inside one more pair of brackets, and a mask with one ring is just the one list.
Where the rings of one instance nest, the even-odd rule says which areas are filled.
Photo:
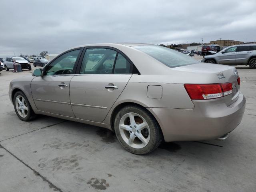
[[31, 91], [40, 111], [74, 117], [70, 104], [69, 86], [81, 49], [66, 52], [49, 63], [42, 77], [31, 82]]

